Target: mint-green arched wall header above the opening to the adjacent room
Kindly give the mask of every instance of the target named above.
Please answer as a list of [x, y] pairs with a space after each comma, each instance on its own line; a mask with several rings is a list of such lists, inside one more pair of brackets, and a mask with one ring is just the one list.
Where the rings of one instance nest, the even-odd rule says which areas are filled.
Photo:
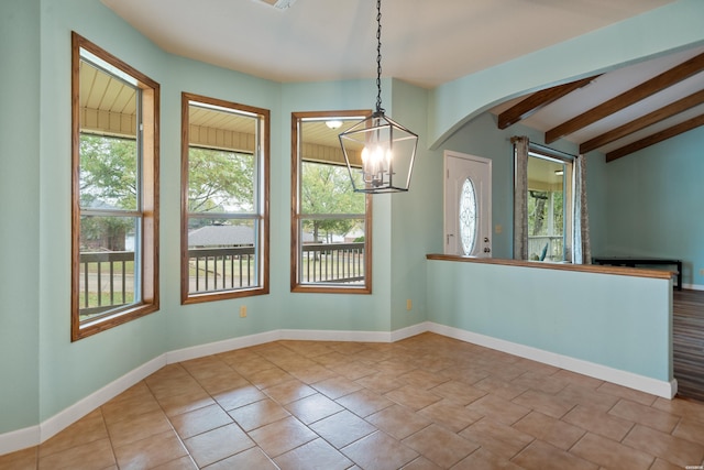
[[679, 0], [526, 54], [431, 91], [428, 141], [438, 147], [482, 111], [528, 91], [704, 42], [704, 2]]

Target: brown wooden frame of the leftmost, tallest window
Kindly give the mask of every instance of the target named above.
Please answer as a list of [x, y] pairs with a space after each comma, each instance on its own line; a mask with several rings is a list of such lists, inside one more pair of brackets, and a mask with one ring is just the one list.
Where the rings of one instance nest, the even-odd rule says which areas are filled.
[[[95, 55], [116, 69], [136, 80], [141, 90], [141, 207], [140, 247], [135, 249], [141, 258], [139, 265], [139, 292], [141, 299], [124, 307], [86, 321], [80, 320], [80, 62], [81, 50]], [[160, 84], [119, 59], [114, 55], [72, 32], [72, 341], [87, 338], [128, 321], [141, 318], [160, 309], [158, 287], [158, 229], [160, 229]], [[140, 140], [138, 140], [139, 142]]]

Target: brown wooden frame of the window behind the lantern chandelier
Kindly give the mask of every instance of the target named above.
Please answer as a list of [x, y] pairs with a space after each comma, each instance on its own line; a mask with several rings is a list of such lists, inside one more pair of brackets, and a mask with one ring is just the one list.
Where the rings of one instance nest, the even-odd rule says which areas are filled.
[[[290, 189], [292, 189], [292, 206], [290, 206], [290, 292], [294, 293], [316, 293], [316, 294], [372, 294], [372, 195], [364, 194], [364, 284], [363, 285], [350, 285], [342, 286], [339, 284], [324, 285], [324, 284], [304, 284], [299, 281], [300, 272], [300, 259], [299, 253], [301, 251], [301, 240], [299, 237], [299, 223], [305, 216], [299, 214], [300, 207], [300, 181], [299, 175], [301, 171], [300, 160], [300, 124], [305, 120], [333, 120], [336, 118], [351, 119], [359, 118], [362, 120], [372, 114], [371, 110], [348, 110], [348, 111], [306, 111], [306, 112], [292, 112], [292, 171], [290, 171]], [[355, 121], [358, 122], [358, 121]], [[341, 165], [341, 167], [346, 166]], [[352, 187], [352, 183], [350, 183]]]

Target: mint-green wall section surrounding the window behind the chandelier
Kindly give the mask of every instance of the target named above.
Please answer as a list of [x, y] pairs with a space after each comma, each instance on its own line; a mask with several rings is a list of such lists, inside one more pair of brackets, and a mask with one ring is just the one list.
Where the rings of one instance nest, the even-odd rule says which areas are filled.
[[[383, 99], [388, 102], [391, 80], [383, 80]], [[283, 87], [280, 105], [280, 135], [285, 144], [280, 150], [283, 181], [272, 206], [279, 206], [282, 228], [280, 255], [272, 272], [278, 271], [280, 328], [309, 330], [388, 331], [388, 263], [385, 247], [388, 245], [389, 206], [375, 198], [373, 207], [373, 295], [333, 295], [290, 293], [290, 130], [292, 112], [344, 109], [371, 109], [374, 106], [375, 86], [370, 80], [333, 81], [317, 84], [290, 84]], [[274, 218], [275, 220], [276, 218]], [[273, 245], [275, 243], [273, 242]]]

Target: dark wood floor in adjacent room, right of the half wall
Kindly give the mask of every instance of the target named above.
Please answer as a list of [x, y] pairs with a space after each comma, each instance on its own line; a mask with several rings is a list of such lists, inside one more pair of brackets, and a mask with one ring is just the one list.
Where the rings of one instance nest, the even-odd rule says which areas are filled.
[[704, 402], [704, 291], [674, 291], [672, 311], [678, 393]]

